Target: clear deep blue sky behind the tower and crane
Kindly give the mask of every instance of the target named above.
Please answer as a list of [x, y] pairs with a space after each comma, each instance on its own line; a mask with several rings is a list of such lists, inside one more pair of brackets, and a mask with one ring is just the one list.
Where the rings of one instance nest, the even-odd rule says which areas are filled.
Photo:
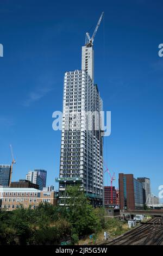
[[[0, 163], [16, 164], [12, 180], [28, 170], [47, 170], [47, 185], [59, 175], [60, 131], [52, 113], [62, 110], [64, 72], [81, 69], [85, 33], [104, 20], [94, 41], [95, 82], [111, 111], [104, 140], [110, 172], [163, 184], [162, 1], [6, 0], [0, 3]], [[105, 174], [105, 184], [109, 176]], [[57, 186], [57, 185], [56, 185]]]

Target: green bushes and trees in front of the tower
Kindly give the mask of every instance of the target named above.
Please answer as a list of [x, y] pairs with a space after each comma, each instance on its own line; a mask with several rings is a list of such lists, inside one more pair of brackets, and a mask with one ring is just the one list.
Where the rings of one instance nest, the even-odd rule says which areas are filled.
[[[65, 206], [45, 203], [36, 209], [0, 211], [0, 245], [59, 245], [64, 241], [77, 244], [81, 237], [97, 234], [112, 227], [121, 232], [121, 223], [105, 220], [104, 209], [93, 208], [79, 187], [67, 188]], [[119, 231], [118, 231], [119, 230]]]

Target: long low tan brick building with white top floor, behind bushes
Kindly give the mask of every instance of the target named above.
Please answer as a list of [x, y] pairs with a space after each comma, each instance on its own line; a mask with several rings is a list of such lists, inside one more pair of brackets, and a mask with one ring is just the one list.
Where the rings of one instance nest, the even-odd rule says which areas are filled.
[[35, 188], [0, 187], [0, 209], [15, 210], [23, 205], [35, 209], [40, 203], [57, 205], [54, 192], [43, 192]]

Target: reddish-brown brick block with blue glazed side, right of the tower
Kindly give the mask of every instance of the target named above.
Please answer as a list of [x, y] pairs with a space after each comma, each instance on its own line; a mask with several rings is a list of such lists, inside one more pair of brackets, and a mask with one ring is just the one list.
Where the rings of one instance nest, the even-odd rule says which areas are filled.
[[120, 209], [143, 209], [143, 187], [133, 174], [119, 174]]

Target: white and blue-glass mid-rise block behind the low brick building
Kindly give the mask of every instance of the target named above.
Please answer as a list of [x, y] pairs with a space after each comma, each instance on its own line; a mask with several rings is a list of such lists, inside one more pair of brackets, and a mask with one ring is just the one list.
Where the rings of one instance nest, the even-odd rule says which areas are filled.
[[30, 170], [26, 175], [26, 180], [29, 180], [30, 182], [39, 185], [39, 190], [42, 190], [43, 187], [46, 187], [46, 175], [46, 170]]

